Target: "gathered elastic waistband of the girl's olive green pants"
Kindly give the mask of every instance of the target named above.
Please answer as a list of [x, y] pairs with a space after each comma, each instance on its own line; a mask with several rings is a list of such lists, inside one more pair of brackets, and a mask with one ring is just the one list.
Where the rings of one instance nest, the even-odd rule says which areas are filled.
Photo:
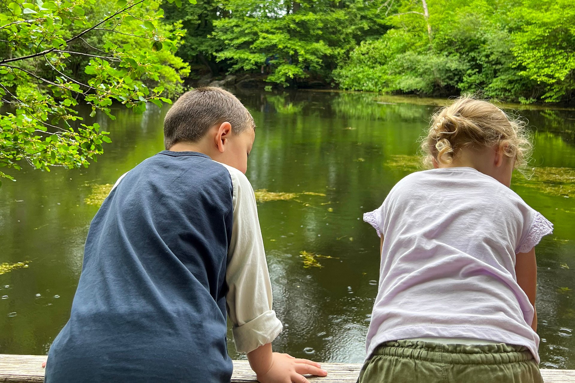
[[418, 359], [421, 361], [493, 365], [526, 362], [533, 358], [531, 351], [524, 346], [506, 345], [444, 345], [423, 341], [385, 342], [373, 352], [373, 356]]

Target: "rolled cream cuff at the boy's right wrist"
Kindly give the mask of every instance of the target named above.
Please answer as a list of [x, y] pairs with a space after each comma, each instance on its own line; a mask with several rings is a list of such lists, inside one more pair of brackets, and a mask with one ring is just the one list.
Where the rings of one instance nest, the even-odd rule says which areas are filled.
[[271, 343], [282, 332], [282, 327], [273, 310], [266, 311], [241, 326], [232, 327], [236, 350], [249, 353], [259, 346]]

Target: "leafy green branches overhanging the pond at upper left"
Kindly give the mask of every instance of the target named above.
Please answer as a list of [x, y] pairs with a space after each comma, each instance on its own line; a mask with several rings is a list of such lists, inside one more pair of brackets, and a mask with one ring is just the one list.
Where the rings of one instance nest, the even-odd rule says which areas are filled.
[[[191, 0], [190, 0], [191, 1]], [[111, 142], [76, 106], [120, 102], [136, 113], [182, 91], [189, 68], [174, 56], [179, 25], [159, 1], [69, 0], [0, 5], [0, 167], [86, 167]], [[0, 178], [9, 175], [0, 172]]]

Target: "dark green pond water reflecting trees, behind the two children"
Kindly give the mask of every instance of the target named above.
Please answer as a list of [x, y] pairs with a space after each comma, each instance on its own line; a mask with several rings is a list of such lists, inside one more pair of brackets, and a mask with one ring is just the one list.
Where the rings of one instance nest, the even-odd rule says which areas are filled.
[[[254, 189], [291, 193], [258, 194], [274, 308], [284, 323], [274, 347], [362, 362], [379, 239], [361, 216], [417, 169], [416, 140], [444, 101], [308, 91], [239, 96], [258, 126], [248, 178]], [[88, 169], [25, 169], [13, 173], [17, 182], [3, 181], [0, 263], [31, 262], [0, 274], [0, 353], [47, 353], [68, 319], [105, 184], [163, 149], [167, 109], [96, 117], [113, 143]], [[575, 111], [519, 113], [534, 130], [536, 169], [529, 181], [516, 174], [512, 188], [555, 224], [536, 249], [542, 367], [575, 369]], [[229, 352], [243, 358], [233, 342]]]

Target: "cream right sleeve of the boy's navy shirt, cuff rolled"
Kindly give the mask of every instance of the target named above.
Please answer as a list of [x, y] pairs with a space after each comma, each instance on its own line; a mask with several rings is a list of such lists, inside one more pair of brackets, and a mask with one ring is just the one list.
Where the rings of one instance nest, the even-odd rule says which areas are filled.
[[282, 331], [282, 323], [271, 310], [271, 282], [254, 189], [243, 173], [224, 166], [233, 184], [232, 241], [225, 274], [228, 316], [237, 351], [249, 353], [271, 343]]

